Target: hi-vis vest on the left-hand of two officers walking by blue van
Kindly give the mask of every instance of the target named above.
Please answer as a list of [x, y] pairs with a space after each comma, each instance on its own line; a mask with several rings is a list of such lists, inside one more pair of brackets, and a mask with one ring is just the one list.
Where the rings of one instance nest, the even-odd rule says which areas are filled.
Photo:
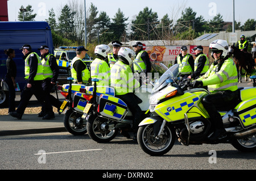
[[34, 81], [42, 81], [44, 79], [43, 65], [40, 57], [35, 52], [28, 54], [27, 58], [25, 59], [25, 79], [28, 79], [28, 77], [30, 77], [30, 65], [28, 64], [28, 58], [30, 58], [30, 56], [36, 56], [36, 58], [38, 58], [38, 70], [36, 71]]

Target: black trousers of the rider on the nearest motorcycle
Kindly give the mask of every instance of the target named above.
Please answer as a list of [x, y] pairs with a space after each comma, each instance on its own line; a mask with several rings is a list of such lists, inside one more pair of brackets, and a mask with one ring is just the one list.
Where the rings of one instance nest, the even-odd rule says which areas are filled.
[[209, 113], [211, 123], [215, 129], [223, 128], [222, 118], [218, 111], [229, 111], [238, 103], [237, 91], [218, 91], [203, 98], [203, 106]]

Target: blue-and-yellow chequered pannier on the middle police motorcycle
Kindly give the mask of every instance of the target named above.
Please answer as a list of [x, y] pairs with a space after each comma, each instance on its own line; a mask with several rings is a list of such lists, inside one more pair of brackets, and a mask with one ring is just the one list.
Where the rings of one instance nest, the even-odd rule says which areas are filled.
[[99, 100], [100, 106], [98, 112], [102, 116], [114, 120], [122, 120], [127, 113], [127, 105], [121, 99], [109, 95], [101, 95]]

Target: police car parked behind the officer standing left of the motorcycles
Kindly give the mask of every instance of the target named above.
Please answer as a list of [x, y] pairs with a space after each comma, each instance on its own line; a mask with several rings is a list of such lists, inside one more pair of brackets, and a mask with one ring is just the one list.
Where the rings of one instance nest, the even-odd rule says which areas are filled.
[[[60, 70], [69, 70], [70, 63], [74, 57], [76, 57], [76, 48], [77, 47], [59, 47], [54, 51], [54, 56], [57, 60], [57, 65]], [[85, 62], [87, 68], [90, 67], [90, 63], [93, 61], [92, 58], [86, 53], [84, 59], [82, 61]]]

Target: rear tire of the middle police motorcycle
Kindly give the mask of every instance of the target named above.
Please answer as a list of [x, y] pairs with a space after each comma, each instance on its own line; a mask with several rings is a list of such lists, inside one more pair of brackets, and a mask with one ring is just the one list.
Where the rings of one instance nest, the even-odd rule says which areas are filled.
[[101, 124], [103, 123], [104, 121], [102, 121], [102, 117], [99, 117], [98, 115], [89, 116], [86, 127], [92, 140], [104, 143], [113, 140], [113, 138], [117, 136], [118, 129], [115, 128], [114, 130], [104, 130], [101, 128]]

